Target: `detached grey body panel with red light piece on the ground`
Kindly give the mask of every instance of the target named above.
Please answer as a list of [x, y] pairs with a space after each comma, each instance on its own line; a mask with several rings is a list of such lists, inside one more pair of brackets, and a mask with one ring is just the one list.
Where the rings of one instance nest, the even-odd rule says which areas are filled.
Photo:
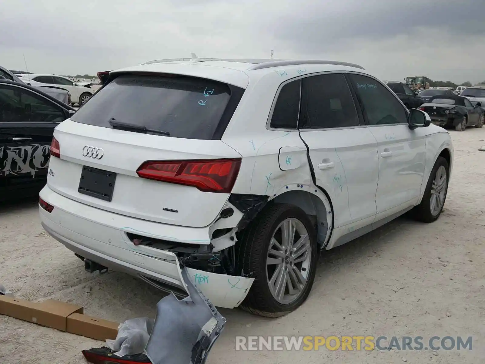
[[93, 364], [204, 364], [226, 318], [192, 284], [185, 268], [182, 277], [189, 297], [178, 300], [171, 294], [158, 302], [145, 353], [118, 357], [111, 349], [100, 347], [83, 350], [86, 360]]

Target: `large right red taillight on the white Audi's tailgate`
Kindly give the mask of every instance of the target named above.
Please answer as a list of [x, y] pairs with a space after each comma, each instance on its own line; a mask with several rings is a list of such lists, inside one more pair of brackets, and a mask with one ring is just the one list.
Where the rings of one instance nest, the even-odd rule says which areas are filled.
[[241, 158], [199, 161], [148, 161], [136, 173], [141, 178], [185, 184], [205, 192], [230, 193]]

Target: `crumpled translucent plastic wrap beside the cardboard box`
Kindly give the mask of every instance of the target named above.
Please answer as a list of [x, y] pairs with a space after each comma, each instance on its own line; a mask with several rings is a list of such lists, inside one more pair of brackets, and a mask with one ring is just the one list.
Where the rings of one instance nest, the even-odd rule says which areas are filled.
[[145, 350], [153, 324], [154, 320], [148, 317], [126, 320], [118, 326], [116, 339], [106, 339], [106, 345], [112, 350], [117, 350], [114, 353], [117, 356], [140, 354]]

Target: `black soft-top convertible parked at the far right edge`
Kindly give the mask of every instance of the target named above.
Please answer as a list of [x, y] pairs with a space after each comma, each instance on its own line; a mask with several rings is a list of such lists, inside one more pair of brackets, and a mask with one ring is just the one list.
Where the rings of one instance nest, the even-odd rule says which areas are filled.
[[485, 109], [480, 102], [472, 105], [469, 99], [462, 96], [434, 96], [419, 109], [428, 113], [433, 124], [444, 128], [454, 126], [458, 132], [463, 132], [470, 125], [477, 128], [484, 125]]

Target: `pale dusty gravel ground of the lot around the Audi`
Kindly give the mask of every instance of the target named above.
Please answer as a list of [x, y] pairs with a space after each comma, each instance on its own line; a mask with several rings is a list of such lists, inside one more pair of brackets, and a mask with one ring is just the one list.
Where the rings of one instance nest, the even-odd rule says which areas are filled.
[[[485, 128], [451, 131], [454, 170], [433, 224], [401, 217], [321, 257], [307, 302], [279, 318], [221, 310], [208, 363], [485, 363]], [[43, 231], [36, 201], [0, 206], [0, 282], [19, 298], [83, 305], [110, 320], [155, 315], [162, 294], [123, 273], [86, 273]], [[85, 363], [101, 342], [0, 315], [0, 363]], [[473, 336], [473, 350], [235, 351], [238, 335]]]

